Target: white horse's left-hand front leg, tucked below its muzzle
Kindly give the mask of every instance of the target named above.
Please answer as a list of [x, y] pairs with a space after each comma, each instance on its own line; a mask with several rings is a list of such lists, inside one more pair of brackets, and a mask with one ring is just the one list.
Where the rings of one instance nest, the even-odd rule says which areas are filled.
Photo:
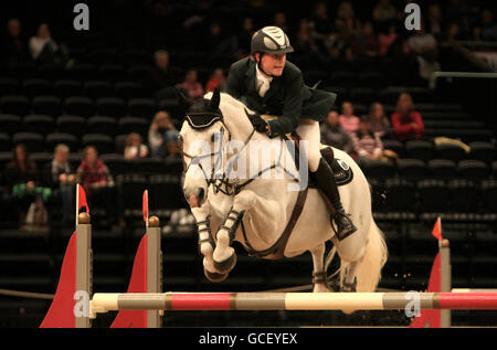
[[200, 208], [192, 208], [191, 212], [195, 218], [199, 234], [199, 252], [203, 255], [203, 273], [211, 282], [222, 282], [228, 277], [228, 274], [220, 274], [215, 269], [212, 257], [215, 247], [212, 231], [219, 227], [219, 220], [211, 214], [209, 202]]

